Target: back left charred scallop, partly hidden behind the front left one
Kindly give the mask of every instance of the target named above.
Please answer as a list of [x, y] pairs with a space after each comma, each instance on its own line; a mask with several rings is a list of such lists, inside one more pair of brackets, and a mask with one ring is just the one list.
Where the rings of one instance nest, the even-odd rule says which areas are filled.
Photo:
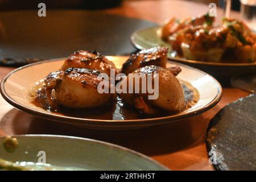
[[115, 65], [97, 51], [76, 51], [65, 60], [61, 70], [68, 68], [97, 69], [110, 75], [110, 69], [115, 69]]

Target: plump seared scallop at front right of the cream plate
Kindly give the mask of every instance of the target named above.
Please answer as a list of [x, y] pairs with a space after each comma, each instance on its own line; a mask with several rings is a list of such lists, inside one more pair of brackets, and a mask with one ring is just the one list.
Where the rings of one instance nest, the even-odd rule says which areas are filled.
[[[123, 82], [126, 82], [128, 85], [128, 90], [133, 86], [131, 90], [133, 93], [120, 93], [122, 100], [129, 105], [134, 106], [138, 109], [141, 113], [144, 114], [156, 114], [159, 113], [161, 110], [168, 110], [168, 111], [180, 111], [183, 110], [185, 107], [185, 98], [184, 98], [184, 91], [183, 88], [175, 77], [174, 73], [177, 73], [178, 69], [166, 69], [161, 68], [155, 65], [146, 66], [143, 68], [139, 68], [133, 73], [129, 74], [127, 77], [123, 78], [121, 81], [121, 85]], [[172, 73], [174, 72], [174, 73]], [[135, 93], [135, 74], [139, 76], [148, 75], [152, 77], [152, 87], [154, 93], [148, 92], [148, 85], [151, 82], [143, 81], [141, 78], [139, 80], [139, 93]], [[142, 75], [143, 74], [143, 75]], [[133, 80], [133, 82], [129, 81]], [[146, 83], [147, 92], [142, 92], [143, 82]], [[133, 85], [131, 85], [133, 84]], [[157, 94], [158, 97], [148, 97]]]

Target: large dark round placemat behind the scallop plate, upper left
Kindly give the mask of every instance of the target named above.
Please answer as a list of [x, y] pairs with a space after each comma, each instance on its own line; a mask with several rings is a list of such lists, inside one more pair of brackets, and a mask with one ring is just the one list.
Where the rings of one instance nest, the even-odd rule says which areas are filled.
[[0, 64], [20, 66], [67, 57], [80, 49], [127, 55], [136, 51], [131, 34], [155, 25], [89, 10], [47, 10], [46, 17], [36, 10], [1, 12]]

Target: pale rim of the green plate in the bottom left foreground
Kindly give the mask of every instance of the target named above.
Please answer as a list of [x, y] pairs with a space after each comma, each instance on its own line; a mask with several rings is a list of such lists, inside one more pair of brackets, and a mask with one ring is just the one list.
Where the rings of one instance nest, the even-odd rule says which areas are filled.
[[[135, 150], [132, 150], [130, 148], [127, 147], [123, 147], [120, 146], [118, 144], [114, 144], [114, 143], [110, 143], [110, 142], [105, 142], [102, 140], [97, 140], [97, 139], [91, 139], [91, 138], [83, 138], [83, 137], [74, 137], [74, 136], [68, 136], [68, 135], [52, 135], [52, 134], [24, 134], [24, 135], [11, 135], [11, 137], [43, 137], [43, 138], [64, 138], [64, 139], [76, 139], [76, 140], [85, 140], [85, 141], [89, 141], [89, 142], [94, 142], [94, 143], [98, 143], [98, 144], [102, 144], [104, 146], [109, 146], [109, 147], [113, 147], [113, 148], [117, 148], [119, 150], [125, 151], [125, 152], [129, 152], [133, 155], [136, 155], [140, 158], [146, 159], [154, 164], [156, 164], [156, 166], [159, 166], [163, 169], [166, 169], [167, 171], [170, 171], [170, 169], [166, 166], [164, 166], [163, 164], [159, 163], [158, 161], [156, 161], [155, 159], [151, 158], [150, 156], [147, 156], [145, 154], [142, 154], [141, 152], [137, 152]], [[5, 138], [5, 137], [0, 137], [1, 138]]]

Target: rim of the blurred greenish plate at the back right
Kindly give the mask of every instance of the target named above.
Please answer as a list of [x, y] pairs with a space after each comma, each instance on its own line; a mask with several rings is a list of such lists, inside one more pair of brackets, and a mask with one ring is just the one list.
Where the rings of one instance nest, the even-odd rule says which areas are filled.
[[[160, 28], [160, 27], [161, 26], [140, 28], [139, 30], [134, 31], [130, 37], [131, 43], [133, 44], [133, 46], [135, 48], [138, 48], [140, 50], [145, 49], [144, 47], [142, 47], [135, 41], [135, 35], [141, 31], [151, 30], [151, 29]], [[208, 66], [217, 66], [217, 67], [256, 67], [256, 62], [255, 63], [214, 63], [214, 62], [196, 61], [196, 60], [184, 59], [181, 57], [170, 57], [170, 56], [168, 56], [168, 59], [170, 59], [172, 61], [177, 61], [179, 63], [184, 63], [184, 64], [189, 63], [189, 64], [196, 64], [196, 65], [208, 65]]]

